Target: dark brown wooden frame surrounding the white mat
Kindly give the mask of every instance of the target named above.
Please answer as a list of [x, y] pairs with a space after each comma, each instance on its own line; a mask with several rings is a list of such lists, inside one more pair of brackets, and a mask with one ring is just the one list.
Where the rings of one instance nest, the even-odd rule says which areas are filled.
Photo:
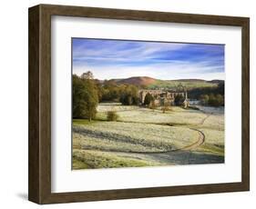
[[[242, 137], [241, 183], [196, 184], [91, 192], [51, 192], [51, 16], [109, 18], [199, 25], [241, 26], [242, 31]], [[191, 15], [118, 10], [67, 5], [29, 8], [29, 170], [28, 199], [57, 204], [143, 198], [181, 194], [210, 194], [250, 189], [250, 19], [219, 15]]]

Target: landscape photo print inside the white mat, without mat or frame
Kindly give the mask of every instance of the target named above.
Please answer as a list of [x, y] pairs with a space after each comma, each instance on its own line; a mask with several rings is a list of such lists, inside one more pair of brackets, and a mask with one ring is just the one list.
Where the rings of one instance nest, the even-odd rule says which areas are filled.
[[71, 41], [72, 169], [224, 163], [225, 45]]

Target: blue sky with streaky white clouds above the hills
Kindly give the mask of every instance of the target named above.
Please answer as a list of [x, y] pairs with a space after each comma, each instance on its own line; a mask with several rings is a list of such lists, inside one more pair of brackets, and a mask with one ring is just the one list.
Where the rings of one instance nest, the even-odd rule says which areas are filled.
[[224, 45], [73, 38], [73, 74], [224, 79]]

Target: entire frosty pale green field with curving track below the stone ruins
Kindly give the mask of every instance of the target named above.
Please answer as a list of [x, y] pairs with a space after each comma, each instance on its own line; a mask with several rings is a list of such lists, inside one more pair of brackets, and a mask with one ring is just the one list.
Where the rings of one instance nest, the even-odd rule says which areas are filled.
[[[116, 111], [118, 121], [107, 121], [108, 111]], [[73, 169], [223, 162], [223, 109], [175, 106], [163, 114], [99, 104], [96, 120], [73, 120]]]

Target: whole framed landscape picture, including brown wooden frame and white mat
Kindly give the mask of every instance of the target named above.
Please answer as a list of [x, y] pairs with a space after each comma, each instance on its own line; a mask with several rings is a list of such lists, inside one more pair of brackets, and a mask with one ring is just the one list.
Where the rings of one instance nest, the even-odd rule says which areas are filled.
[[249, 17], [35, 5], [28, 42], [29, 201], [250, 190]]

